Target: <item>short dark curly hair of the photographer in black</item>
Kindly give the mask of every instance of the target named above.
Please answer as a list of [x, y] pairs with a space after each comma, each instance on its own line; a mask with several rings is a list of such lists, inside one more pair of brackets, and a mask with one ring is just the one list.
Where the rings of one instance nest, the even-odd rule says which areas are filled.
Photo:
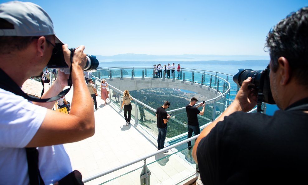
[[266, 47], [271, 57], [271, 69], [278, 69], [278, 58], [285, 57], [291, 68], [291, 75], [300, 84], [308, 80], [308, 7], [292, 12], [270, 30]]

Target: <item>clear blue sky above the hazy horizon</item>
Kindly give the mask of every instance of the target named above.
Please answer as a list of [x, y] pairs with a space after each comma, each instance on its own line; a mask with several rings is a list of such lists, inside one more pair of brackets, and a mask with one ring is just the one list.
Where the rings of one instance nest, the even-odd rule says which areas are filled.
[[[258, 55], [266, 35], [307, 0], [28, 0], [69, 47], [92, 55]], [[0, 2], [7, 2], [0, 0]]]

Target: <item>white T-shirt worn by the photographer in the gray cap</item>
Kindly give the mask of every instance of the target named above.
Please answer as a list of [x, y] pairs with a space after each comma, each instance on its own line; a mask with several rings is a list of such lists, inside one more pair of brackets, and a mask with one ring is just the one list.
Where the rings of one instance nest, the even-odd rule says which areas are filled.
[[[28, 185], [24, 148], [40, 128], [47, 109], [0, 89], [0, 184]], [[72, 171], [63, 145], [39, 147], [39, 169], [46, 185]]]

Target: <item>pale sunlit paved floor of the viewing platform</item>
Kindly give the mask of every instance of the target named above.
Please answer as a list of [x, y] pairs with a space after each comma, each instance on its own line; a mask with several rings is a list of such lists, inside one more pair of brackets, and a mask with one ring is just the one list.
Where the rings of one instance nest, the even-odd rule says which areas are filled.
[[[31, 89], [36, 93], [41, 92], [40, 82], [27, 80], [25, 84], [30, 84]], [[23, 90], [27, 91], [25, 90], [28, 89], [26, 85], [23, 86]], [[44, 84], [44, 86], [46, 92], [49, 85]], [[72, 103], [73, 87], [65, 97]], [[140, 125], [133, 121], [130, 125], [125, 125], [123, 112], [109, 102], [105, 106], [100, 97], [97, 97], [97, 104], [99, 109], [94, 110], [94, 136], [79, 142], [64, 144], [70, 156], [73, 170], [79, 170], [83, 179], [157, 151], [156, 137], [145, 132]], [[175, 184], [195, 171], [195, 167], [191, 163], [182, 159], [183, 156], [181, 158], [176, 154], [172, 155], [176, 151], [176, 149], [172, 149], [168, 153], [159, 153], [146, 160], [147, 167], [151, 171], [151, 184]], [[140, 184], [143, 164], [143, 161], [135, 163], [85, 184], [97, 185], [113, 178], [116, 179], [106, 184]], [[123, 176], [117, 178], [121, 175]], [[184, 182], [180, 184], [184, 184]]]

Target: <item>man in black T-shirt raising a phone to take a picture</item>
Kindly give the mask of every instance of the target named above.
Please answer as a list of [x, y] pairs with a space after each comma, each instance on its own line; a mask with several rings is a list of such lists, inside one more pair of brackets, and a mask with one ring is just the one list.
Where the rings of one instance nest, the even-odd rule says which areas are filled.
[[[190, 104], [186, 105], [186, 114], [187, 114], [187, 127], [188, 127], [188, 138], [191, 138], [192, 132], [194, 131], [195, 135], [200, 134], [200, 126], [198, 121], [198, 114], [201, 116], [204, 113], [204, 106], [205, 104], [199, 104], [198, 106], [194, 107], [196, 103], [198, 102], [197, 98], [192, 97], [190, 100]], [[200, 111], [198, 108], [203, 106], [202, 111]], [[188, 149], [190, 150], [191, 147], [191, 141], [188, 141]]]

